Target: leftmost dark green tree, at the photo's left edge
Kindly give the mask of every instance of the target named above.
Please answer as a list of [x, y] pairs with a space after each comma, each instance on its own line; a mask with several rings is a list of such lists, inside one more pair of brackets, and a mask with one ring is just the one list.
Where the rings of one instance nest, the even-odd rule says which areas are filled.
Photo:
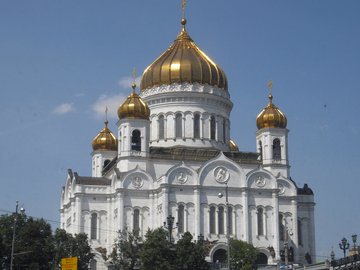
[[14, 268], [49, 269], [54, 255], [50, 224], [44, 219], [26, 215], [3, 215], [0, 217], [0, 263], [2, 269], [10, 268], [14, 219], [16, 237], [14, 242]]

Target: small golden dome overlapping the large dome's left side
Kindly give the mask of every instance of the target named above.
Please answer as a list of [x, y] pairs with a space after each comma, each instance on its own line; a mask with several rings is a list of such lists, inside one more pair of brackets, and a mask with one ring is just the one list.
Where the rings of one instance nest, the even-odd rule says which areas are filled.
[[118, 109], [119, 119], [137, 118], [149, 119], [150, 110], [148, 105], [135, 93], [136, 85], [132, 86], [133, 91]]

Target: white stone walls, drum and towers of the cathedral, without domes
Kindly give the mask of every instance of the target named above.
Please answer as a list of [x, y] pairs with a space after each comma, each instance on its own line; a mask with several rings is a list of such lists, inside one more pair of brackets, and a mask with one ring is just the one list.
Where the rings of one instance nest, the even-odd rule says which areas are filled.
[[[163, 226], [169, 215], [181, 223], [173, 232], [175, 240], [185, 231], [195, 239], [201, 234], [209, 241], [218, 240], [209, 261], [225, 247], [227, 220], [230, 236], [259, 248], [269, 264], [278, 262], [286, 231], [295, 262], [305, 263], [306, 253], [314, 257], [314, 196], [307, 186], [298, 188], [290, 178], [288, 130], [260, 129], [257, 153], [231, 152], [228, 93], [210, 86], [207, 92], [196, 85], [195, 91], [180, 91], [181, 87], [143, 92], [150, 121], [119, 120], [119, 151], [94, 151], [91, 177], [69, 170], [61, 194], [61, 228], [88, 234], [97, 269], [107, 269], [97, 248], [109, 254], [119, 230], [140, 229], [144, 235], [149, 228]], [[179, 137], [175, 136], [176, 114], [181, 114]], [[200, 115], [198, 138], [195, 114]], [[162, 138], [160, 115], [166, 116]], [[211, 116], [215, 138], [210, 134]], [[141, 132], [136, 150], [131, 145], [133, 130]], [[274, 139], [280, 140], [280, 159], [273, 158]], [[226, 185], [229, 213], [225, 196], [218, 196], [225, 193]]]

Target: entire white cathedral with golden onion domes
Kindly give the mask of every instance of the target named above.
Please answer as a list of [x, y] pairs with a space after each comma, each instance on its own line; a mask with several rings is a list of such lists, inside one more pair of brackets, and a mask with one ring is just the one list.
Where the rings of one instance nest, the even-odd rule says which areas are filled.
[[209, 262], [225, 262], [229, 237], [254, 245], [261, 264], [278, 264], [285, 246], [293, 263], [315, 258], [314, 194], [291, 179], [285, 114], [264, 97], [256, 150], [239, 151], [230, 92], [183, 16], [174, 42], [143, 72], [140, 91], [134, 83], [119, 104], [116, 132], [105, 118], [92, 141], [92, 175], [68, 170], [61, 228], [88, 235], [91, 269], [108, 269], [101, 255], [118, 231], [144, 236], [170, 216], [175, 241], [188, 231], [212, 243]]

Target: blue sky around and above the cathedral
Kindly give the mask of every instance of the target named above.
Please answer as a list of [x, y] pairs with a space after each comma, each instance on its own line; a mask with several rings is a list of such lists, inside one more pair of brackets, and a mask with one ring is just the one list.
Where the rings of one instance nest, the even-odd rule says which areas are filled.
[[[318, 260], [360, 234], [360, 2], [190, 0], [187, 29], [226, 72], [231, 136], [255, 151], [267, 103], [288, 117], [291, 176], [316, 199]], [[91, 141], [180, 31], [178, 0], [0, 1], [0, 214], [19, 200], [58, 226], [67, 169], [91, 174]]]

